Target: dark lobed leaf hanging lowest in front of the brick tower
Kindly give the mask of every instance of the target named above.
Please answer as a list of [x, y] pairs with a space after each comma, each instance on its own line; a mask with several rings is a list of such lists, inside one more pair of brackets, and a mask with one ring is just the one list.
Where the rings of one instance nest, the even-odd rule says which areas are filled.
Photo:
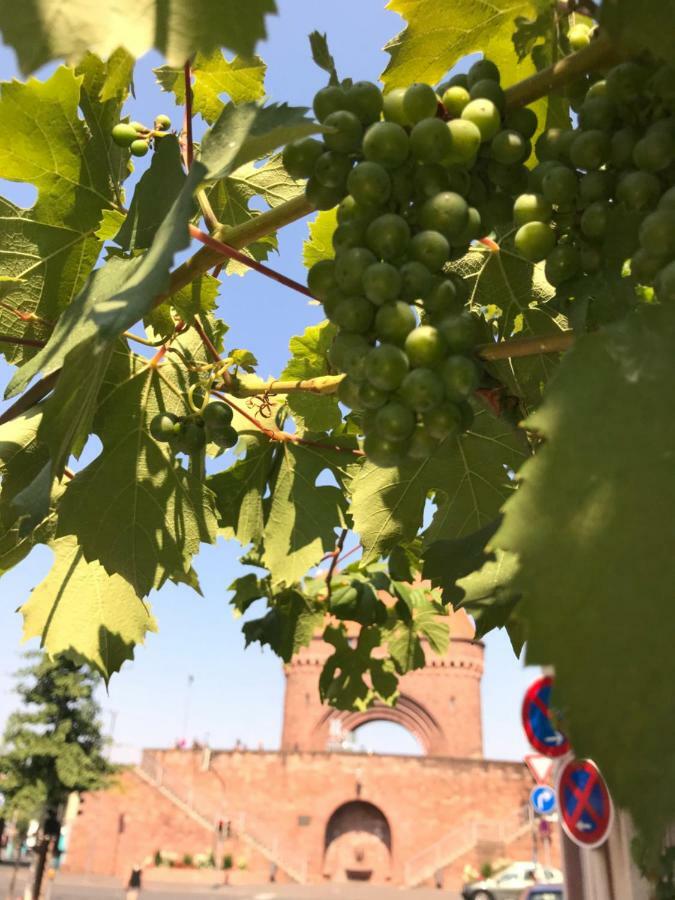
[[319, 676], [321, 702], [336, 709], [366, 709], [379, 700], [392, 705], [398, 693], [398, 678], [390, 660], [376, 659], [373, 651], [382, 643], [382, 632], [374, 625], [362, 628], [352, 646], [344, 626], [327, 626], [323, 634], [335, 647]]

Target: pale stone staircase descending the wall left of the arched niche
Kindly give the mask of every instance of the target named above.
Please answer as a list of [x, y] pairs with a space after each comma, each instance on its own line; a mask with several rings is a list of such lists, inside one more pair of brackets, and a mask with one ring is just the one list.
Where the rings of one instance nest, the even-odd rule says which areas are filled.
[[[262, 854], [270, 863], [278, 866], [293, 881], [299, 884], [307, 881], [307, 860], [300, 858], [292, 848], [282, 846], [272, 829], [250, 814], [244, 812], [233, 814], [231, 810], [225, 813], [224, 803], [217, 796], [219, 792], [213, 790], [212, 779], [209, 779], [211, 783], [207, 795], [200, 792], [197, 797], [192, 786], [186, 788], [178, 779], [172, 779], [161, 764], [151, 756], [144, 756], [135, 771], [146, 784], [159, 791], [184, 815], [197, 822], [210, 834], [214, 834], [219, 821], [227, 819], [234, 836]], [[208, 768], [205, 769], [203, 774], [206, 775], [208, 771]]]

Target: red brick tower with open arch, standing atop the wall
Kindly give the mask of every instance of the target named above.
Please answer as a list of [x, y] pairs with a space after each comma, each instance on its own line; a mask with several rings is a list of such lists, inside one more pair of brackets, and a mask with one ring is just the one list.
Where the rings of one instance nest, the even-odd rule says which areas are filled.
[[333, 648], [319, 635], [286, 666], [286, 697], [281, 748], [287, 752], [325, 751], [338, 733], [372, 721], [395, 722], [417, 738], [427, 756], [481, 758], [480, 683], [483, 644], [460, 611], [450, 620], [451, 641], [445, 656], [425, 646], [427, 665], [400, 681], [396, 706], [365, 712], [342, 712], [323, 706], [318, 680]]

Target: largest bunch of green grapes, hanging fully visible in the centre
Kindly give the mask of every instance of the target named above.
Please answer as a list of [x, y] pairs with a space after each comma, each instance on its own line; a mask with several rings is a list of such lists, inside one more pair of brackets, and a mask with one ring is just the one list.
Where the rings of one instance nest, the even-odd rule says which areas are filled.
[[283, 161], [308, 179], [315, 207], [337, 206], [335, 258], [314, 265], [308, 285], [338, 327], [339, 398], [376, 464], [424, 459], [470, 426], [481, 380], [479, 320], [448, 263], [510, 219], [537, 117], [507, 113], [486, 59], [437, 89], [383, 96], [347, 81], [313, 105], [322, 140], [289, 144]]

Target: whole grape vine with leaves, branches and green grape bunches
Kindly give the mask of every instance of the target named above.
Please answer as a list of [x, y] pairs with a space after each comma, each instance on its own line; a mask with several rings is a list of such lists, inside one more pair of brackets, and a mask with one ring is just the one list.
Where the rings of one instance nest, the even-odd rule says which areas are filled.
[[[0, 573], [54, 556], [25, 635], [109, 679], [157, 628], [148, 595], [198, 589], [224, 535], [255, 570], [231, 586], [247, 642], [288, 660], [323, 629], [322, 697], [350, 708], [395, 703], [464, 608], [555, 667], [654, 868], [675, 790], [672, 12], [392, 0], [381, 85], [310, 36], [310, 111], [265, 100], [272, 0], [204, 0], [208, 29], [158, 4], [134, 34], [56, 4], [0, 2], [25, 74], [67, 60], [0, 94], [0, 171], [37, 189], [0, 201]], [[180, 127], [127, 115], [153, 36]], [[270, 257], [310, 215], [305, 285]], [[326, 316], [274, 378], [219, 314], [248, 270]]]

